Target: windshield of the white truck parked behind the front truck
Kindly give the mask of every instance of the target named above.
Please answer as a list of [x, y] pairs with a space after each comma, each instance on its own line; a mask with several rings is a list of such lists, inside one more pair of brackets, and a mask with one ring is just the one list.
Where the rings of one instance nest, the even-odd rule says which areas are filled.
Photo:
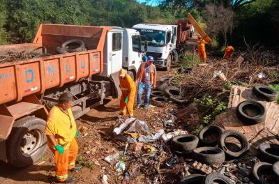
[[148, 45], [163, 46], [165, 45], [165, 31], [158, 31], [152, 29], [137, 29], [141, 35], [146, 36]]

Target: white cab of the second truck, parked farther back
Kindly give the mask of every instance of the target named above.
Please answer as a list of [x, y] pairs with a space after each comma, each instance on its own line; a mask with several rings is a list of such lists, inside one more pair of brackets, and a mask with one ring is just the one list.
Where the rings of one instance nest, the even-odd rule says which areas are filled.
[[172, 61], [178, 59], [176, 51], [177, 25], [172, 24], [136, 24], [133, 26], [146, 36], [148, 43], [147, 56], [153, 56], [155, 65], [169, 70]]

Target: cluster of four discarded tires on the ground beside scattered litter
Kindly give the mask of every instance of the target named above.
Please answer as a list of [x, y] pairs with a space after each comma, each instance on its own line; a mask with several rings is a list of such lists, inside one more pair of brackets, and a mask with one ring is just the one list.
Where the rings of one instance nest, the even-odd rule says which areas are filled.
[[[236, 144], [237, 149], [227, 143], [232, 137], [239, 141], [241, 146]], [[236, 159], [245, 155], [249, 150], [249, 142], [246, 137], [234, 130], [223, 130], [218, 125], [207, 125], [200, 132], [199, 136], [179, 135], [172, 138], [171, 148], [174, 153], [180, 155], [192, 154], [195, 160], [204, 164], [223, 164], [225, 159]]]

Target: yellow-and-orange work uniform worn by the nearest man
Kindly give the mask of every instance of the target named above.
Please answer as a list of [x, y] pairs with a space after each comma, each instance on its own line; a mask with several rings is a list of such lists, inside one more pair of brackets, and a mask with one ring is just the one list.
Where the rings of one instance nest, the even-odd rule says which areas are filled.
[[59, 154], [50, 141], [47, 141], [52, 153], [55, 155], [55, 175], [57, 181], [66, 181], [68, 177], [68, 169], [75, 167], [78, 146], [75, 140], [75, 132], [77, 125], [71, 109], [67, 109], [68, 114], [64, 113], [59, 107], [52, 107], [47, 118], [45, 127], [46, 135], [54, 135], [57, 143], [65, 149], [63, 154]]

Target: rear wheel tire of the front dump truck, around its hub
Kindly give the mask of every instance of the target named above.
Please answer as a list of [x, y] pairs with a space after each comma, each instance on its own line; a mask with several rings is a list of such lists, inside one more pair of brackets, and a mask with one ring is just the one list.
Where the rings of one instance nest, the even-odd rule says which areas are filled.
[[[35, 128], [43, 132], [42, 145], [40, 145], [40, 148], [38, 148], [34, 155], [31, 157], [25, 157], [20, 152], [22, 136], [24, 136], [26, 132]], [[47, 137], [45, 136], [44, 132], [45, 121], [41, 118], [26, 116], [20, 120], [17, 120], [6, 142], [8, 163], [15, 167], [28, 167], [45, 155], [45, 152], [47, 151]]]

